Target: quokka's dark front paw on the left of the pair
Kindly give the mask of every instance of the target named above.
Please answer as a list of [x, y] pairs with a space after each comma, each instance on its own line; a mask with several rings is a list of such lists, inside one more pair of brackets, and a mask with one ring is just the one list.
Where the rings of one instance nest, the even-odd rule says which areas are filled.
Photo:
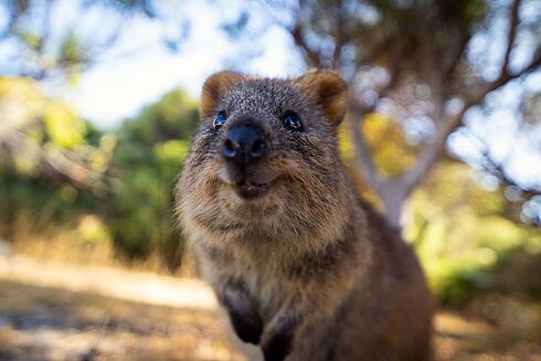
[[263, 332], [263, 321], [251, 295], [233, 282], [218, 291], [218, 297], [227, 310], [231, 323], [241, 340], [257, 344]]

